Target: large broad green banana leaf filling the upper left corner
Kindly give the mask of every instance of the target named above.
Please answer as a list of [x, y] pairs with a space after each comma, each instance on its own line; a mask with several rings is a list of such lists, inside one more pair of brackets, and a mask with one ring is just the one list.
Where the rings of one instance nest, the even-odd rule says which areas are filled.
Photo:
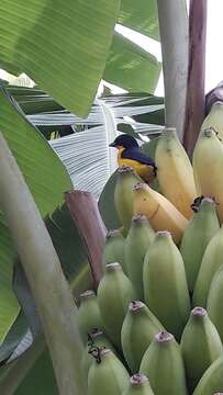
[[120, 0], [1, 0], [0, 66], [24, 71], [83, 116], [105, 66], [119, 10]]

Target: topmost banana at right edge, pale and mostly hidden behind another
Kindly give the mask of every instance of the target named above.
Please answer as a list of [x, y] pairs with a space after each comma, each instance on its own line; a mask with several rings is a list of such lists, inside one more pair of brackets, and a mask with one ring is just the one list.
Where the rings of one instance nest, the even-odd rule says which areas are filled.
[[215, 102], [212, 104], [210, 113], [204, 119], [201, 131], [212, 127], [223, 138], [223, 103]]

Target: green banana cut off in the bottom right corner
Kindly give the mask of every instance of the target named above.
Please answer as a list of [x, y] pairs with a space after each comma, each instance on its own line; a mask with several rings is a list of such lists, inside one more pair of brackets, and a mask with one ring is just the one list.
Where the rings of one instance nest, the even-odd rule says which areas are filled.
[[193, 395], [212, 395], [223, 388], [223, 357], [218, 358], [204, 372]]

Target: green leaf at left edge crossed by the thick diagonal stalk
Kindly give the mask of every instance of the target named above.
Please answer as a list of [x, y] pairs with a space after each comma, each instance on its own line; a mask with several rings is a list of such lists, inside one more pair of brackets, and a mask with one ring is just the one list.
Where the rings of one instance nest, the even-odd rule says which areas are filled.
[[[0, 131], [15, 156], [43, 216], [64, 201], [71, 188], [70, 178], [57, 155], [41, 133], [24, 117], [16, 103], [0, 89]], [[11, 287], [16, 258], [5, 217], [0, 213], [0, 343], [7, 336], [20, 307]]]

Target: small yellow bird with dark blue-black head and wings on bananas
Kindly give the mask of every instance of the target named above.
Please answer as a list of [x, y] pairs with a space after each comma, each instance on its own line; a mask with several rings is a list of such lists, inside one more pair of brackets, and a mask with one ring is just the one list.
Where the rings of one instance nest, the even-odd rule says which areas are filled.
[[120, 135], [113, 143], [110, 144], [110, 147], [114, 147], [119, 150], [119, 167], [132, 167], [147, 183], [152, 182], [156, 177], [157, 167], [154, 160], [142, 151], [134, 137], [127, 134]]

